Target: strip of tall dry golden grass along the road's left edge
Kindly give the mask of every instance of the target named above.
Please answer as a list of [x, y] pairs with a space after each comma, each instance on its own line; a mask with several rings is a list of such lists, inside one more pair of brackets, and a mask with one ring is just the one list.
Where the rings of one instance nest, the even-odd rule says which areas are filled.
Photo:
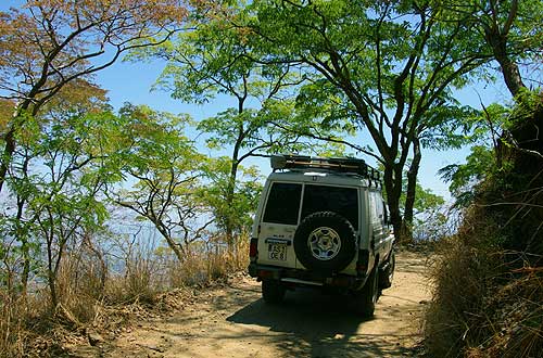
[[247, 238], [233, 253], [223, 245], [194, 245], [182, 263], [153, 245], [131, 247], [116, 263], [122, 266], [117, 271], [88, 251], [71, 253], [59, 270], [55, 309], [50, 309], [46, 287], [26, 301], [0, 290], [0, 358], [54, 357], [70, 340], [85, 342], [89, 328], [111, 332], [130, 318], [165, 309], [172, 306], [164, 302], [172, 290], [204, 286], [244, 269], [248, 246]]

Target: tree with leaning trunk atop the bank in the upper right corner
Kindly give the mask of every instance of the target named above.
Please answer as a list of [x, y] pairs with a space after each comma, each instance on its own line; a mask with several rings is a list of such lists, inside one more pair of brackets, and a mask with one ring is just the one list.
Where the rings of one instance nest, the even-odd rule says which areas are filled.
[[[483, 179], [510, 170], [512, 163], [506, 161], [508, 148], [541, 156], [536, 153], [538, 146], [533, 145], [538, 141], [541, 143], [538, 137], [541, 123], [536, 123], [533, 113], [539, 106], [539, 98], [527, 90], [519, 62], [538, 59], [543, 38], [543, 12], [540, 1], [517, 0], [457, 2], [450, 4], [449, 11], [465, 15], [475, 33], [479, 34], [500, 65], [505, 85], [518, 104], [513, 107], [500, 104], [483, 107], [478, 116], [478, 137], [482, 135], [483, 140], [471, 149], [465, 164], [441, 169], [443, 178], [451, 181], [451, 191], [456, 195], [457, 204], [468, 205], [475, 200], [476, 186]], [[535, 151], [526, 148], [527, 144], [532, 144]], [[536, 162], [532, 164], [529, 165], [538, 168]]]

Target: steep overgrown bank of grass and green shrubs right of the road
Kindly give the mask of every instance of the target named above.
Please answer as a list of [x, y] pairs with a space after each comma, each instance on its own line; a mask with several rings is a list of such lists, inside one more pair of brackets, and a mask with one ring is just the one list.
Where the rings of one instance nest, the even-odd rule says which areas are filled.
[[543, 351], [543, 142], [534, 136], [543, 107], [540, 93], [522, 95], [531, 100], [501, 111], [507, 120], [497, 146], [475, 148], [477, 156], [452, 175], [458, 205], [467, 206], [458, 231], [438, 245], [431, 272], [425, 333], [433, 356]]

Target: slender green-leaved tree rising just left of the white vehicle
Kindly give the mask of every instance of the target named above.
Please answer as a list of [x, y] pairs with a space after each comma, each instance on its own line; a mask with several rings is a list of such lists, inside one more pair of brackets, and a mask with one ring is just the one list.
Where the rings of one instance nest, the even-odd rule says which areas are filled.
[[280, 116], [285, 113], [290, 116], [293, 101], [285, 97], [302, 79], [290, 73], [288, 64], [262, 65], [250, 59], [245, 34], [228, 23], [230, 11], [218, 7], [213, 15], [195, 13], [194, 30], [140, 52], [137, 57], [167, 61], [159, 86], [171, 90], [173, 98], [203, 104], [226, 95], [231, 101], [227, 110], [198, 124], [198, 129], [209, 136], [210, 148], [230, 151], [228, 180], [220, 180], [225, 203], [219, 205], [223, 209], [216, 207], [215, 214], [231, 246], [241, 229], [239, 213], [233, 209], [238, 194], [242, 195], [238, 188], [240, 165], [251, 156], [301, 148], [298, 133], [287, 132], [274, 123], [282, 123]]

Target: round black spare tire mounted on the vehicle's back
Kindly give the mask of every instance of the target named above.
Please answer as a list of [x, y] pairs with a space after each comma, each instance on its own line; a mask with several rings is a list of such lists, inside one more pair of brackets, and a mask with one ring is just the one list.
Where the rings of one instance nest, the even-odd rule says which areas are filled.
[[354, 228], [343, 216], [318, 212], [306, 216], [294, 233], [294, 252], [302, 265], [319, 274], [343, 270], [356, 250]]

